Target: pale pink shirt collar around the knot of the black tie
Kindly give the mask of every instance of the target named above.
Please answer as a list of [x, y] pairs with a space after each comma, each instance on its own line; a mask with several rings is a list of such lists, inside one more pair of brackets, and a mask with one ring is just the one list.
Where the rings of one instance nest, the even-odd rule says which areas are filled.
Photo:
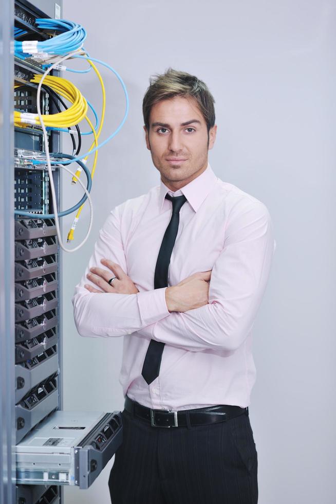
[[165, 201], [165, 195], [169, 193], [171, 196], [180, 196], [184, 194], [187, 201], [193, 207], [195, 212], [197, 212], [198, 208], [201, 206], [203, 201], [208, 196], [209, 192], [214, 186], [217, 177], [213, 172], [210, 163], [208, 163], [207, 168], [200, 174], [198, 177], [194, 178], [189, 184], [181, 187], [177, 191], [173, 192], [166, 185], [163, 184], [162, 180], [160, 181], [160, 196], [159, 196], [159, 208], [160, 212], [162, 211], [163, 204]]

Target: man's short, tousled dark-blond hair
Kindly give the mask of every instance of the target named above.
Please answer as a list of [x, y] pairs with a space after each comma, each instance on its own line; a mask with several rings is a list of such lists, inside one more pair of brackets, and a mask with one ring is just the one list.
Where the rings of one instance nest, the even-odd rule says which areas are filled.
[[167, 100], [175, 96], [195, 98], [200, 112], [207, 123], [209, 130], [215, 124], [214, 97], [208, 86], [195, 77], [173, 68], [168, 68], [164, 74], [156, 74], [150, 78], [142, 101], [143, 120], [147, 131], [150, 129], [150, 115], [152, 106], [161, 100]]

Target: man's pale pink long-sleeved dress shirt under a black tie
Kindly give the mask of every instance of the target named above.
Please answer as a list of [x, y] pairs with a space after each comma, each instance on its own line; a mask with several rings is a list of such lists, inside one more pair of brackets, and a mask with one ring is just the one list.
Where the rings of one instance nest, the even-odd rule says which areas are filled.
[[[166, 287], [154, 289], [155, 265], [172, 214], [167, 192], [187, 199], [180, 210], [169, 286], [212, 269], [209, 304], [183, 313], [168, 311]], [[275, 247], [267, 207], [221, 181], [210, 164], [178, 191], [160, 181], [108, 215], [72, 298], [77, 330], [81, 336], [124, 337], [119, 381], [124, 396], [145, 406], [247, 407], [256, 375], [251, 331]], [[86, 274], [92, 266], [104, 268], [102, 258], [118, 263], [140, 292], [87, 291]], [[151, 338], [165, 347], [160, 374], [147, 385], [141, 370]]]

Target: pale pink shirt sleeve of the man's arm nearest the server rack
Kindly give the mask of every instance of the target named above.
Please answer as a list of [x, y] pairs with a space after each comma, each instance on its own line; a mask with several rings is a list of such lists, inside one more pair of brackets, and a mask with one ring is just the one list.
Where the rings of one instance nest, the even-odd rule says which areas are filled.
[[97, 266], [110, 271], [101, 264], [103, 258], [116, 262], [127, 274], [118, 207], [110, 212], [99, 231], [94, 253], [81, 281], [74, 289], [74, 321], [81, 336], [123, 336], [170, 315], [165, 302], [166, 287], [137, 294], [91, 293], [85, 289], [85, 284], [97, 288], [97, 285], [86, 277], [91, 267]]

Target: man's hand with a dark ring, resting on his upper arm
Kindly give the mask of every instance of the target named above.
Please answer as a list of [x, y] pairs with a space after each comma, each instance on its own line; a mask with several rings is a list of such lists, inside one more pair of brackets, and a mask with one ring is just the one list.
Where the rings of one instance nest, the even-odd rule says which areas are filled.
[[[90, 292], [96, 293], [117, 293], [117, 294], [137, 294], [139, 291], [133, 281], [126, 275], [122, 267], [115, 262], [108, 261], [107, 259], [102, 259], [100, 261], [104, 266], [110, 269], [110, 272], [102, 268], [90, 268], [90, 273], [86, 276], [92, 282], [95, 283], [100, 290], [95, 289], [89, 284], [85, 284], [84, 287]], [[108, 280], [116, 277], [111, 284]]]

